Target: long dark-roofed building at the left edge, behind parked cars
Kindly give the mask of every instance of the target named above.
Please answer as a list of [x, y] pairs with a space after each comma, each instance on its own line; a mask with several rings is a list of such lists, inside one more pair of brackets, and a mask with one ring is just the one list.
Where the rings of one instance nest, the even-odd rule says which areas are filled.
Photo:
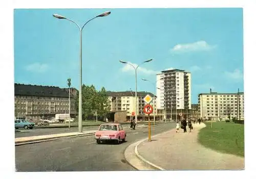
[[[70, 88], [71, 116], [75, 115], [75, 88]], [[37, 120], [69, 113], [69, 89], [54, 86], [14, 84], [15, 118]]]

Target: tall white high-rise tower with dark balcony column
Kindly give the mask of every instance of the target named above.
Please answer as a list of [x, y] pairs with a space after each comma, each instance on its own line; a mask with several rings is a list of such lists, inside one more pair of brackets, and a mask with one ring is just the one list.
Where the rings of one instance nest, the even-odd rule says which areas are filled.
[[177, 113], [186, 118], [191, 109], [191, 74], [185, 70], [164, 70], [156, 75], [157, 107], [166, 118], [176, 119]]

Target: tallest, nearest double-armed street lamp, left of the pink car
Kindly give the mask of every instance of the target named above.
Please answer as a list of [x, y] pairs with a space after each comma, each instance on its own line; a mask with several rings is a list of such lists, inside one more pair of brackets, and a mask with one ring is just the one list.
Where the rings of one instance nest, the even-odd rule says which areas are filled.
[[56, 17], [58, 19], [67, 19], [67, 20], [75, 23], [80, 31], [80, 63], [79, 63], [80, 64], [80, 74], [79, 74], [80, 83], [79, 83], [79, 105], [78, 105], [78, 132], [80, 132], [80, 133], [82, 132], [82, 30], [83, 30], [84, 26], [91, 20], [93, 20], [97, 17], [107, 16], [110, 13], [111, 13], [110, 11], [106, 11], [100, 15], [97, 15], [97, 16], [91, 18], [90, 20], [88, 20], [86, 23], [84, 23], [82, 27], [80, 27], [80, 25], [78, 25], [75, 21], [68, 19], [67, 17], [61, 16], [58, 14], [53, 14], [53, 17]]

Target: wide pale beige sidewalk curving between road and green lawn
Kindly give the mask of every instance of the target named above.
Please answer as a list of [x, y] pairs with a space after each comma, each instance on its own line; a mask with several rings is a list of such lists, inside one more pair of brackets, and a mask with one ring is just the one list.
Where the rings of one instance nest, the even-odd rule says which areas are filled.
[[183, 130], [176, 133], [173, 129], [153, 136], [151, 142], [145, 140], [138, 145], [137, 154], [165, 170], [244, 169], [244, 158], [222, 154], [197, 142], [198, 132], [205, 127], [204, 123], [193, 124], [193, 127], [191, 133], [183, 133]]

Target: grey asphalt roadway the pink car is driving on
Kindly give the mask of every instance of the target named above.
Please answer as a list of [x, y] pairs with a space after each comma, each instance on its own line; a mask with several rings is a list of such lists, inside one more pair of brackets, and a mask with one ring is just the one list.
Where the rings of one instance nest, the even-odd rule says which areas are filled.
[[[168, 131], [176, 123], [152, 127], [152, 135]], [[147, 137], [147, 128], [130, 129], [126, 142], [97, 144], [94, 136], [15, 146], [16, 171], [119, 171], [135, 170], [124, 160], [125, 148]]]

